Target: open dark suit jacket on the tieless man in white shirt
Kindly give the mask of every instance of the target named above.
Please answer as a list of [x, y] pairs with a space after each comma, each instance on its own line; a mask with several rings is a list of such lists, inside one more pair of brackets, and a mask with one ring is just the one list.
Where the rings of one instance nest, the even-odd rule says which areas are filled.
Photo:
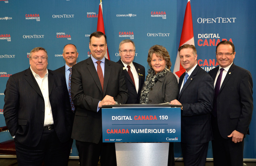
[[[48, 88], [54, 129], [64, 143], [71, 137], [71, 106], [63, 75], [48, 69]], [[10, 76], [4, 94], [5, 123], [11, 135], [23, 145], [37, 146], [44, 127], [45, 104], [31, 69]]]

